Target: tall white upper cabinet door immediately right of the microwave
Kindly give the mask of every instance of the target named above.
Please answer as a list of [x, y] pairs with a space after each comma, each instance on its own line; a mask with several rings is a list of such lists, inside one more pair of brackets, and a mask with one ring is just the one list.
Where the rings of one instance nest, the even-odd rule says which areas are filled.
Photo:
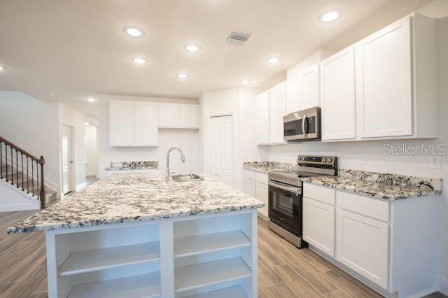
[[356, 138], [354, 59], [350, 47], [321, 64], [323, 141]]

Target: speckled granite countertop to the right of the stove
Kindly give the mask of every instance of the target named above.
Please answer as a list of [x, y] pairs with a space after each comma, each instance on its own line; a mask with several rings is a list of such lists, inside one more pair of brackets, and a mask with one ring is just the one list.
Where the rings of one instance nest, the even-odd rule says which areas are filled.
[[302, 178], [302, 181], [370, 197], [396, 200], [442, 192], [442, 180], [391, 173], [339, 169], [338, 176]]

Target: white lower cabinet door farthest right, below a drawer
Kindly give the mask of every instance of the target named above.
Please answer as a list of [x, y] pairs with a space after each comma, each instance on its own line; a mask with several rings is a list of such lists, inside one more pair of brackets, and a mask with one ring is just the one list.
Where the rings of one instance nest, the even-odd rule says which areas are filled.
[[388, 224], [338, 209], [336, 260], [386, 289]]

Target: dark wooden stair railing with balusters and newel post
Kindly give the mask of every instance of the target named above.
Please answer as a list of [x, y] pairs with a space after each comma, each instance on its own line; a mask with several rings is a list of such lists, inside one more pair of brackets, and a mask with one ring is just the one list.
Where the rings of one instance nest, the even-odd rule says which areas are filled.
[[[46, 194], [45, 194], [45, 178], [43, 175], [43, 165], [45, 164], [45, 158], [43, 158], [43, 156], [41, 157], [35, 157], [34, 155], [32, 155], [31, 153], [23, 150], [22, 148], [20, 148], [19, 146], [15, 146], [13, 143], [11, 143], [10, 141], [7, 141], [6, 139], [3, 139], [0, 136], [0, 177], [3, 179], [3, 153], [2, 153], [2, 148], [3, 148], [3, 143], [4, 148], [5, 148], [5, 165], [6, 165], [6, 181], [10, 182], [11, 184], [14, 185], [14, 155], [13, 155], [13, 150], [15, 150], [15, 185], [17, 186], [17, 188], [20, 189], [20, 175], [19, 175], [19, 152], [20, 152], [20, 157], [21, 157], [21, 162], [20, 162], [20, 166], [22, 168], [22, 191], [27, 192], [28, 194], [30, 193], [30, 188], [31, 188], [31, 195], [34, 196], [34, 162], [36, 162], [36, 180], [38, 183], [38, 190], [37, 190], [37, 197], [39, 199], [39, 201], [41, 201], [41, 208], [45, 208], [45, 199], [46, 199]], [[11, 173], [10, 173], [10, 181], [8, 180], [8, 149], [10, 150], [10, 169], [11, 169]], [[26, 158], [26, 167], [24, 166], [24, 162], [23, 162], [23, 156], [25, 155]], [[31, 159], [31, 187], [29, 187], [29, 164], [28, 164], [28, 160]], [[38, 166], [38, 167], [37, 167]], [[27, 170], [27, 185], [26, 185], [26, 189], [25, 189], [25, 179], [24, 179], [24, 167]], [[40, 173], [39, 173], [40, 170]]]

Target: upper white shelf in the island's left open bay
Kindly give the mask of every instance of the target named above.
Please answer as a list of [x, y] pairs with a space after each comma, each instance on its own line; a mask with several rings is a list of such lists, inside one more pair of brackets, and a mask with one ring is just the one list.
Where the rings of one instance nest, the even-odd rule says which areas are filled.
[[69, 276], [157, 260], [160, 260], [158, 241], [132, 246], [83, 250], [72, 253], [62, 264], [59, 274]]

